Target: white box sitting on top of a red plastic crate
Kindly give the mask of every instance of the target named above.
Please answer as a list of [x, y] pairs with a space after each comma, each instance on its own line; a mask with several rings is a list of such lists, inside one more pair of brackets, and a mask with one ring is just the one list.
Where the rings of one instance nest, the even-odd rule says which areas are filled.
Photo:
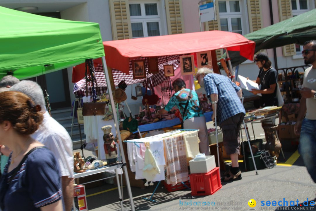
[[207, 173], [216, 167], [215, 156], [207, 155], [206, 160], [190, 160], [189, 165], [191, 174]]

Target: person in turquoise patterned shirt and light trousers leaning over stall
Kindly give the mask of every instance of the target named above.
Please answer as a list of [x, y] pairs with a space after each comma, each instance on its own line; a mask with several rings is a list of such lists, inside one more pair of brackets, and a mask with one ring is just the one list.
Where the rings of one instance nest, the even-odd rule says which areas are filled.
[[185, 88], [185, 82], [181, 78], [175, 79], [172, 82], [172, 86], [175, 93], [170, 98], [165, 108], [159, 111], [159, 114], [167, 114], [174, 106], [177, 106], [182, 114], [183, 128], [199, 129], [200, 131], [198, 132], [198, 137], [201, 141], [199, 143], [200, 152], [205, 153], [205, 155], [210, 155], [205, 117], [202, 110], [199, 108], [200, 104], [197, 93], [194, 90], [191, 90], [191, 98], [185, 114], [183, 115], [185, 104], [190, 94], [190, 89]]

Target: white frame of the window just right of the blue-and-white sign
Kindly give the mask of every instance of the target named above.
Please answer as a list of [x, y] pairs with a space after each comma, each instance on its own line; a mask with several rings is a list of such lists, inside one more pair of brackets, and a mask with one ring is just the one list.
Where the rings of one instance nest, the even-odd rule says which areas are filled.
[[[228, 19], [228, 31], [229, 32], [234, 32], [232, 30], [232, 22], [231, 22], [231, 18], [240, 18], [240, 22], [241, 22], [241, 34], [245, 34], [245, 28], [244, 25], [246, 25], [246, 18], [243, 14], [245, 14], [244, 11], [244, 4], [242, 3], [241, 0], [234, 0], [234, 1], [238, 1], [239, 2], [239, 9], [240, 12], [230, 12], [230, 7], [229, 7], [229, 1], [233, 1], [233, 0], [220, 0], [221, 2], [225, 1], [226, 3], [226, 12], [219, 12], [219, 18], [220, 19]], [[219, 1], [219, 2], [220, 2]], [[220, 21], [219, 21], [220, 23]]]

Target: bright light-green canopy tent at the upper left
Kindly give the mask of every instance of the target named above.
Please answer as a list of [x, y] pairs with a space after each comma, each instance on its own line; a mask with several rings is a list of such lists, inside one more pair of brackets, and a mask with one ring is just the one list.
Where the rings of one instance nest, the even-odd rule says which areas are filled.
[[98, 23], [75, 22], [0, 7], [0, 78], [39, 76], [104, 56]]

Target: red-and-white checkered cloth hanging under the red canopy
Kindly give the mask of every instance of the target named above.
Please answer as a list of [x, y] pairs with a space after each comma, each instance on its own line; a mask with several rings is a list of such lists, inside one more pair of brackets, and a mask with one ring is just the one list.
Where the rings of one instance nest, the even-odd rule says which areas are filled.
[[[147, 64], [147, 60], [146, 60], [146, 78], [142, 78], [142, 79], [133, 79], [133, 71], [132, 71], [132, 62], [130, 61], [130, 74], [127, 75], [119, 70], [116, 69], [112, 69], [112, 73], [113, 73], [113, 79], [114, 79], [114, 85], [118, 86], [119, 82], [124, 80], [125, 83], [127, 85], [130, 84], [137, 84], [137, 83], [143, 83], [143, 86], [146, 87], [146, 84], [148, 83], [149, 88], [152, 88], [150, 83], [153, 85], [153, 87], [160, 85], [165, 79], [166, 77], [164, 76], [164, 70], [163, 70], [163, 66], [164, 65], [173, 65], [173, 70], [176, 70], [179, 65], [180, 65], [180, 61], [179, 61], [179, 56], [180, 55], [172, 55], [172, 56], [160, 56], [158, 57], [158, 68], [159, 68], [159, 72], [156, 74], [153, 73], [148, 73], [148, 64]], [[137, 59], [135, 59], [137, 60]], [[95, 68], [95, 78], [97, 81], [97, 85], [98, 88], [100, 87], [106, 87], [106, 78], [104, 75], [104, 71], [103, 71], [103, 66], [102, 65], [98, 65]], [[89, 90], [91, 89], [91, 87], [89, 86]], [[85, 78], [83, 78], [82, 80], [78, 81], [77, 83], [75, 83], [74, 85], [74, 93], [76, 91], [82, 91], [85, 92], [86, 90], [86, 80]], [[89, 92], [90, 94], [91, 92]], [[101, 93], [102, 94], [102, 93]]]

